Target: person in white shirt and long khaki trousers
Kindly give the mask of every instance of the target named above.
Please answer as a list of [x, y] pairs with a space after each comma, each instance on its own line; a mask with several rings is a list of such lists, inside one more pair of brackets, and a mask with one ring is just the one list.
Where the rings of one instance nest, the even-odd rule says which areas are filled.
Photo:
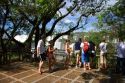
[[105, 39], [102, 39], [101, 43], [99, 44], [99, 49], [100, 49], [100, 67], [99, 69], [106, 69], [107, 64], [106, 64], [106, 56], [107, 56], [107, 43]]

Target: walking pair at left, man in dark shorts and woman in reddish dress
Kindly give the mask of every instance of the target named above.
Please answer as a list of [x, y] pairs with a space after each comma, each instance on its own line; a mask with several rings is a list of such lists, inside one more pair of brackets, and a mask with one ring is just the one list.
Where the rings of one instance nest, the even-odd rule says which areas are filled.
[[43, 66], [44, 61], [46, 61], [46, 57], [48, 57], [49, 72], [52, 72], [52, 67], [56, 63], [56, 59], [53, 55], [53, 52], [55, 50], [56, 49], [54, 49], [52, 41], [49, 41], [49, 45], [48, 45], [47, 50], [45, 48], [45, 44], [44, 44], [42, 38], [38, 41], [37, 56], [38, 56], [39, 61], [40, 61], [39, 62], [39, 68], [38, 68], [39, 73], [43, 73], [42, 66]]

